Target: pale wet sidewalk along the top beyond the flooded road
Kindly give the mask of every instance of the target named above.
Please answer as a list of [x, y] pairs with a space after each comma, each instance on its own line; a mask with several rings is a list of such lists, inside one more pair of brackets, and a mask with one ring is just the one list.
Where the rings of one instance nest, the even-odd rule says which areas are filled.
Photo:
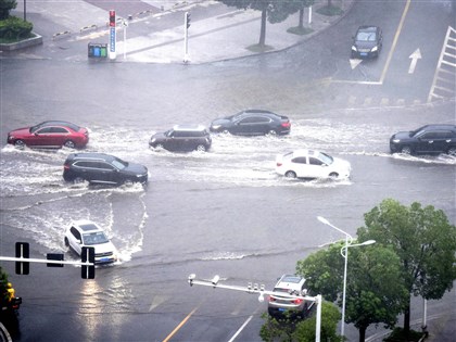
[[[328, 1], [317, 0], [312, 8], [312, 15], [308, 9], [304, 11], [304, 27], [311, 30], [307, 35], [287, 31], [299, 25], [299, 13], [291, 15], [282, 23], [267, 22], [266, 46], [268, 49], [265, 52], [280, 51], [317, 35], [340, 21], [350, 11], [353, 2], [354, 0], [332, 0], [332, 4], [340, 8], [343, 14], [327, 16], [317, 13], [317, 10], [326, 7]], [[99, 2], [98, 5], [94, 3], [97, 4], [91, 0], [88, 2], [28, 1], [27, 20], [34, 23], [34, 31], [43, 36], [45, 49], [41, 50], [60, 48], [62, 52], [61, 46], [65, 45], [66, 50], [69, 49], [68, 43], [72, 42], [107, 42], [106, 2]], [[12, 14], [22, 17], [22, 1], [17, 2], [17, 8]], [[213, 11], [214, 8], [221, 10]], [[258, 11], [228, 8], [213, 0], [190, 0], [178, 3], [145, 0], [135, 2], [131, 8], [124, 7], [122, 11], [117, 11], [116, 62], [182, 63], [185, 56], [183, 12], [191, 12], [192, 15], [188, 39], [190, 63], [224, 61], [261, 53], [249, 49], [257, 45], [259, 40], [261, 12]], [[122, 27], [123, 20], [128, 23], [125, 30]], [[174, 25], [169, 25], [173, 21]], [[166, 25], [164, 25], [165, 22]], [[124, 43], [124, 31], [127, 37], [126, 43]], [[139, 31], [141, 34], [138, 34]], [[87, 51], [80, 52], [69, 59], [87, 58]]]

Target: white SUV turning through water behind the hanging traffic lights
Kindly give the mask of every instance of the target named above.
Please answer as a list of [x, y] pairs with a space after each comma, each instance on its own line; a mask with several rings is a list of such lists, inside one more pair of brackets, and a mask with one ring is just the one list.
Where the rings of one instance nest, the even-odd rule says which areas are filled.
[[90, 220], [75, 220], [65, 231], [65, 245], [78, 255], [84, 246], [94, 248], [96, 264], [109, 264], [117, 261], [117, 250], [107, 239], [103, 229]]

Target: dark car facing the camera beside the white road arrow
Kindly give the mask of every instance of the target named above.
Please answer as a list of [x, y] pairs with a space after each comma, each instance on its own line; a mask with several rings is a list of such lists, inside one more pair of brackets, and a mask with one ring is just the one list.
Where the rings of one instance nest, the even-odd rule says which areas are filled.
[[352, 59], [377, 58], [383, 46], [383, 35], [378, 26], [359, 26], [353, 37]]

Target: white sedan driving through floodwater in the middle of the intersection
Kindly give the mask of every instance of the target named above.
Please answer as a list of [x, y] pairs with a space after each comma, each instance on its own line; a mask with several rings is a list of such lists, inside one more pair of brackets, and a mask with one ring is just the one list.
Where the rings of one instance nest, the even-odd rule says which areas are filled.
[[276, 172], [288, 178], [350, 178], [352, 167], [347, 161], [324, 152], [296, 150], [276, 157]]

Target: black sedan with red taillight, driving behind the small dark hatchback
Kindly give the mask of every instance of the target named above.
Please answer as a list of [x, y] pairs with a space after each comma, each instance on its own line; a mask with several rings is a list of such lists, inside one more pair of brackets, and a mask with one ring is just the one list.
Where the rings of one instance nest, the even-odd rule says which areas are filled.
[[269, 111], [248, 110], [212, 122], [211, 131], [240, 136], [288, 135], [290, 119]]

